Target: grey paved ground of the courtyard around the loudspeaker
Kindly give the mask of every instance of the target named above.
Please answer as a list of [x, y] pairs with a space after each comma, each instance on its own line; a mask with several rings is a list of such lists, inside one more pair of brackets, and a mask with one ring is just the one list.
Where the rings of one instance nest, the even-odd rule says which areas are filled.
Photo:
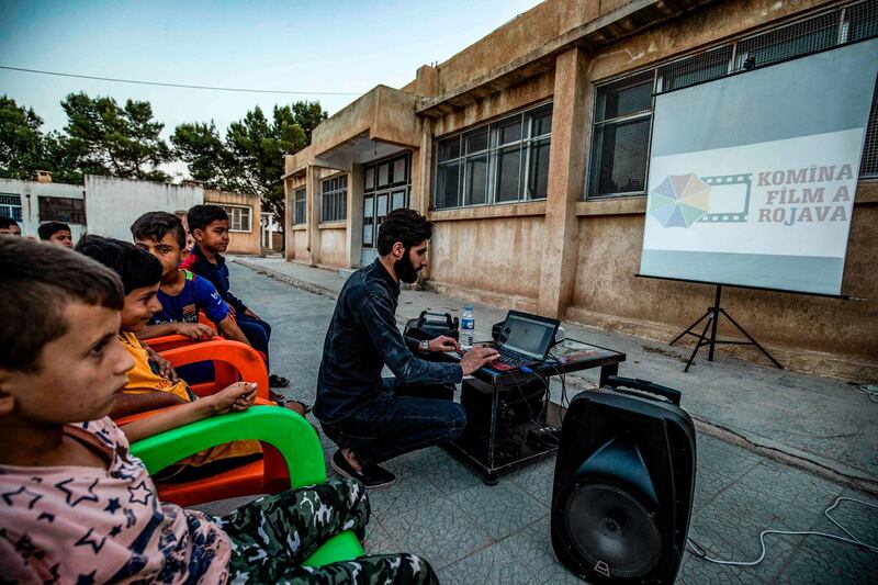
[[[291, 396], [313, 403], [323, 340], [342, 279], [280, 259], [236, 262], [230, 265], [233, 290], [272, 324], [272, 370], [293, 381]], [[401, 320], [426, 307], [458, 312], [463, 302], [404, 291]], [[475, 306], [476, 337], [486, 339], [491, 324], [504, 314]], [[685, 348], [564, 327], [569, 337], [624, 351], [621, 375], [683, 392], [682, 406], [699, 430], [689, 536], [709, 555], [754, 560], [759, 531], [766, 528], [838, 533], [823, 515], [838, 496], [878, 506], [878, 404], [847, 384], [722, 356], [712, 363], [699, 357], [684, 374]], [[577, 385], [594, 386], [596, 376], [596, 371], [585, 372]], [[334, 446], [323, 441], [328, 461]], [[553, 464], [553, 459], [543, 460], [489, 487], [439, 448], [397, 458], [387, 466], [399, 482], [370, 493], [367, 550], [419, 553], [442, 583], [575, 583], [554, 558], [549, 537]], [[238, 503], [203, 508], [222, 513]], [[862, 540], [878, 543], [878, 509], [844, 502], [833, 517]], [[765, 561], [755, 567], [720, 566], [686, 554], [678, 582], [878, 582], [878, 555], [858, 547], [801, 536], [768, 536], [767, 545]]]

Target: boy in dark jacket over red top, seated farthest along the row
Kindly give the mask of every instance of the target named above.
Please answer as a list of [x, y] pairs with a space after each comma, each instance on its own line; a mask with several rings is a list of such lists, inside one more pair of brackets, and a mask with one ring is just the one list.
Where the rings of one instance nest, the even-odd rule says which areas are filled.
[[[228, 248], [228, 214], [218, 205], [195, 205], [187, 214], [187, 224], [195, 246], [183, 268], [213, 283], [250, 345], [268, 357], [271, 326], [228, 290], [228, 268], [225, 258], [219, 254]], [[269, 383], [273, 387], [284, 387], [290, 381], [272, 374]]]

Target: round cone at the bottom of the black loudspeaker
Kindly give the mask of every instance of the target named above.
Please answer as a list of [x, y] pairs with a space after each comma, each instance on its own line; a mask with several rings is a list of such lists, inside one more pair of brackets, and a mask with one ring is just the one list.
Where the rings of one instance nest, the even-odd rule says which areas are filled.
[[564, 503], [563, 516], [577, 551], [589, 567], [608, 571], [607, 577], [639, 577], [658, 563], [658, 527], [641, 503], [622, 490], [606, 484], [577, 487]]

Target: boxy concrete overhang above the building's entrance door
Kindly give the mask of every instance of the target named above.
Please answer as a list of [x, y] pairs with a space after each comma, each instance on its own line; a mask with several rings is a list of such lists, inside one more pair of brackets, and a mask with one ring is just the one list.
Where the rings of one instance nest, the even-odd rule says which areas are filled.
[[416, 104], [412, 93], [376, 86], [314, 128], [311, 146], [286, 157], [283, 177], [295, 177], [308, 165], [349, 171], [353, 164], [417, 147]]

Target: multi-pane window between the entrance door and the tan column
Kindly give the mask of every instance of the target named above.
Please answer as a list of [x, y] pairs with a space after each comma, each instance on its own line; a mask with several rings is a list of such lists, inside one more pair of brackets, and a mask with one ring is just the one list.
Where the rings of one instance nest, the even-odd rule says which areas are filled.
[[437, 144], [437, 210], [545, 199], [552, 104], [442, 138]]

